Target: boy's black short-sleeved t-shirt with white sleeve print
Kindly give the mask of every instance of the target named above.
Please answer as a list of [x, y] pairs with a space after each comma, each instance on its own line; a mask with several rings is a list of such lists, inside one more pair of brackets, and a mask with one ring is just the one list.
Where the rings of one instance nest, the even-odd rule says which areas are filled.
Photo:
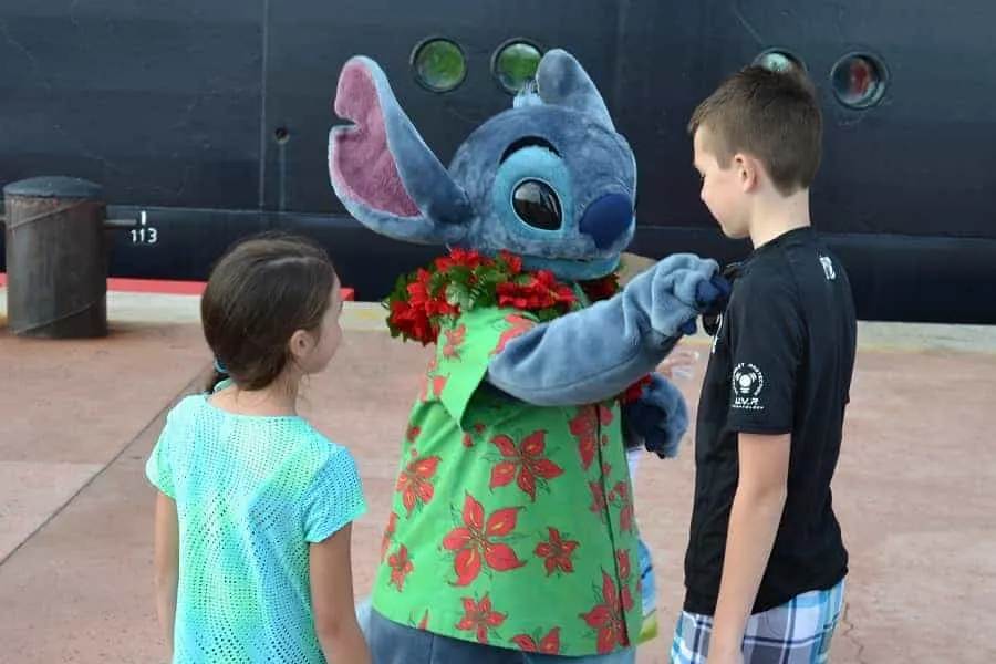
[[738, 433], [791, 433], [788, 496], [754, 612], [848, 571], [831, 506], [857, 321], [838, 259], [807, 227], [745, 261], [713, 339], [698, 405], [695, 500], [685, 556], [691, 613], [713, 615], [737, 488]]

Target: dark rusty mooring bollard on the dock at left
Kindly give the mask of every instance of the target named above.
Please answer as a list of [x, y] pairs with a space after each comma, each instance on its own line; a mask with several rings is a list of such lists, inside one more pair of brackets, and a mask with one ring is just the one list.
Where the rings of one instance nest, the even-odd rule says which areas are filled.
[[18, 336], [106, 336], [107, 242], [101, 186], [35, 177], [3, 188], [7, 322]]

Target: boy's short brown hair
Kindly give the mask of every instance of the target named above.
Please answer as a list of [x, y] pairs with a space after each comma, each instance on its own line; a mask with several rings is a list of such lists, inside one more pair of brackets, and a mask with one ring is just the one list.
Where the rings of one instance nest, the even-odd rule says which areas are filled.
[[692, 114], [688, 133], [709, 133], [722, 166], [738, 152], [758, 158], [787, 196], [812, 184], [820, 167], [823, 121], [801, 73], [751, 65], [733, 74]]

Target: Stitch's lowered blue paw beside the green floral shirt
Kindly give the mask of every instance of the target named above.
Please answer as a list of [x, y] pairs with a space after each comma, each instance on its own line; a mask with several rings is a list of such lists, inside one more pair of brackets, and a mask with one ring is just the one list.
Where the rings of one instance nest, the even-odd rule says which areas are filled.
[[671, 458], [688, 430], [688, 405], [671, 381], [660, 374], [651, 380], [639, 400], [623, 406], [624, 435], [662, 459]]

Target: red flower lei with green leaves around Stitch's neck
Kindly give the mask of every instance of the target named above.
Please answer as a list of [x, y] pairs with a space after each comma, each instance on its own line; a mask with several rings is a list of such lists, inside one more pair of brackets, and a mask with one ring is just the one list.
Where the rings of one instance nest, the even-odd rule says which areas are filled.
[[[591, 302], [605, 300], [619, 292], [619, 274], [578, 283]], [[522, 259], [508, 251], [487, 258], [478, 251], [453, 249], [428, 268], [398, 278], [384, 301], [390, 310], [387, 329], [391, 336], [414, 340], [422, 345], [436, 343], [440, 326], [454, 321], [460, 311], [475, 307], [509, 307], [529, 311], [541, 322], [571, 311], [578, 295], [549, 270], [522, 270]], [[621, 403], [640, 397], [646, 375], [619, 395]]]

